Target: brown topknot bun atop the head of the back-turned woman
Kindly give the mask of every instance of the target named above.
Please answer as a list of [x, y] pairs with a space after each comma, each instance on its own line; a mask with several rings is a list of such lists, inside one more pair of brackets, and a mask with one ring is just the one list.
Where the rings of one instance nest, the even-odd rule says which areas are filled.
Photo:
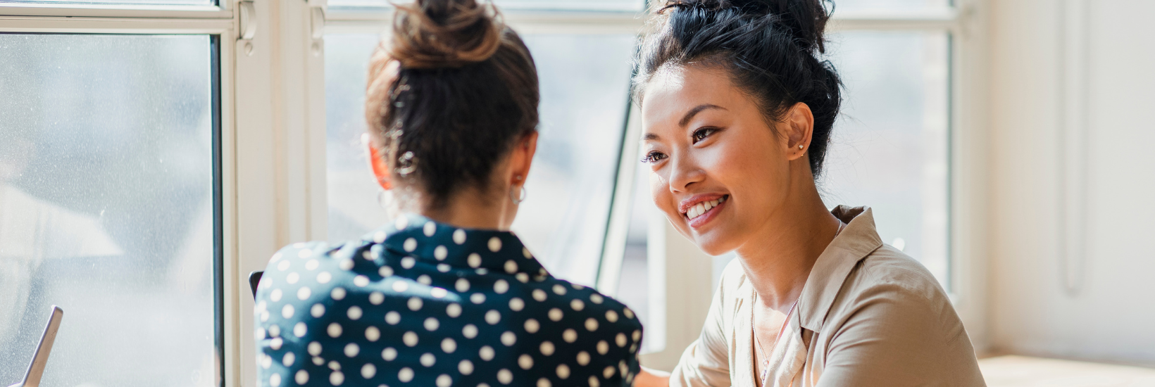
[[397, 5], [389, 55], [404, 68], [461, 67], [490, 59], [505, 25], [477, 0], [416, 0]]

